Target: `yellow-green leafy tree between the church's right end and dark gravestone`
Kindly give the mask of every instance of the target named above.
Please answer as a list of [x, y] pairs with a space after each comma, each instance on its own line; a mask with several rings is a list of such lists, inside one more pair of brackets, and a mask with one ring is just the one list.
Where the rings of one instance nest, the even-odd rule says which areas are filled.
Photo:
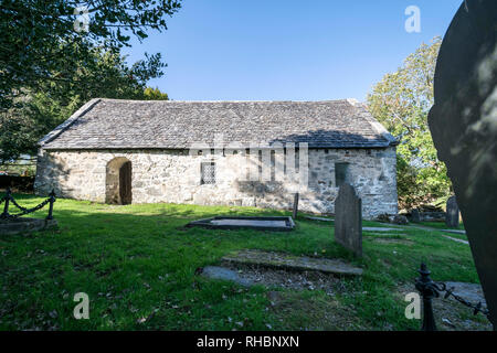
[[368, 95], [371, 114], [400, 140], [398, 193], [401, 207], [446, 199], [451, 182], [437, 159], [427, 126], [433, 105], [433, 78], [442, 40], [422, 44], [395, 72]]

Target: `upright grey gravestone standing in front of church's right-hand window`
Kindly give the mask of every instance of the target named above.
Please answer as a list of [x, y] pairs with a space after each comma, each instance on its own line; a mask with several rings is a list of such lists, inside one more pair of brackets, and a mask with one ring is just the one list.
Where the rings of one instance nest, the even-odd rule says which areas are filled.
[[362, 203], [348, 183], [340, 186], [335, 201], [335, 242], [362, 256]]

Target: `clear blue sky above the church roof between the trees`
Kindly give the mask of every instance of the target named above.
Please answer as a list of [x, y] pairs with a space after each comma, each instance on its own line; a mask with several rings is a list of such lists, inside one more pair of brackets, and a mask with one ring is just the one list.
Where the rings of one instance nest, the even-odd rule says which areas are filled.
[[[416, 47], [443, 35], [462, 0], [184, 0], [125, 50], [162, 53], [159, 87], [176, 100], [364, 100]], [[421, 10], [408, 33], [405, 8]]]

